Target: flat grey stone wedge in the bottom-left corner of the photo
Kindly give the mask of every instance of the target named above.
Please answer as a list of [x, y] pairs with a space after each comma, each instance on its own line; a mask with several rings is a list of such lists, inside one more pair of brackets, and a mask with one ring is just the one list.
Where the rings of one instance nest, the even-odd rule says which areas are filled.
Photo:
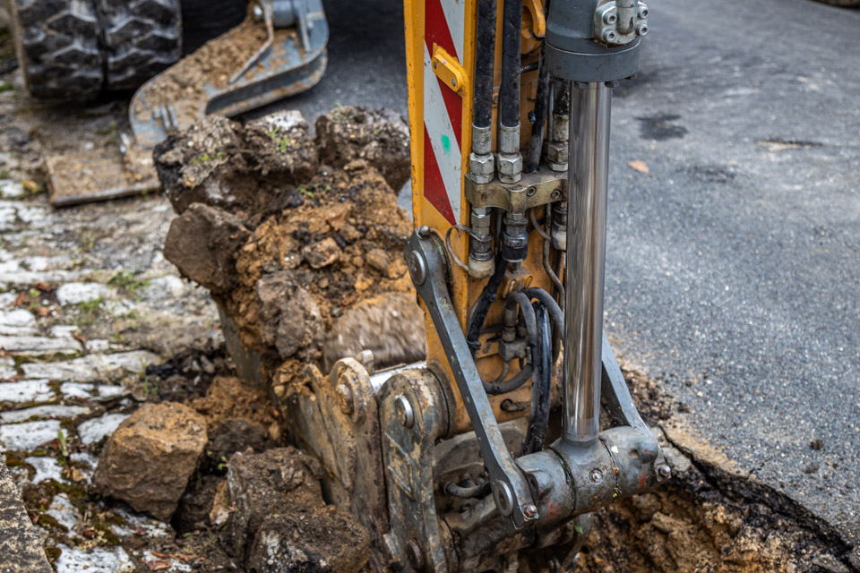
[[39, 537], [21, 502], [18, 488], [0, 457], [0, 571], [51, 573]]

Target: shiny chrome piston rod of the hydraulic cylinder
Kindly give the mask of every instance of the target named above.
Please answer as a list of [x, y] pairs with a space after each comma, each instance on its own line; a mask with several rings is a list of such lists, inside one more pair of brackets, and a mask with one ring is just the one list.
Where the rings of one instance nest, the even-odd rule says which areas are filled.
[[574, 83], [571, 93], [563, 433], [575, 441], [600, 431], [611, 97], [603, 82]]

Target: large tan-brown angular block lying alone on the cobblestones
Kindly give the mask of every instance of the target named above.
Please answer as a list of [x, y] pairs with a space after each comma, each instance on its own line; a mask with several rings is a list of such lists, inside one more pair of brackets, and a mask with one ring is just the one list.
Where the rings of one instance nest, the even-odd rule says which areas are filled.
[[191, 408], [172, 402], [147, 404], [107, 440], [93, 483], [103, 495], [167, 520], [206, 441], [206, 421]]

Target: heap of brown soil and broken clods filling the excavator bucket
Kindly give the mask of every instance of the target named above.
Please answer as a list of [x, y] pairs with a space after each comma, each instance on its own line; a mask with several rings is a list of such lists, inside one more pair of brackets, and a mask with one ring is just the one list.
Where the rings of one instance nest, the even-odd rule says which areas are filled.
[[211, 117], [156, 150], [180, 214], [165, 257], [210, 290], [228, 337], [259, 355], [258, 381], [277, 371], [290, 383], [307, 363], [327, 370], [361, 350], [377, 366], [424, 357], [402, 254], [411, 223], [391, 189], [409, 173], [404, 129], [357, 107], [323, 115], [315, 141], [295, 112], [246, 125]]

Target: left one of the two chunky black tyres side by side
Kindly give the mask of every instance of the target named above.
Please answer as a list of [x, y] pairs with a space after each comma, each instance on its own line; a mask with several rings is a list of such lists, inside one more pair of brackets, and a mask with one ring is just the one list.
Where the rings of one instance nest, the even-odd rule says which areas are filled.
[[30, 93], [79, 97], [102, 87], [99, 18], [91, 2], [13, 0], [15, 49]]

